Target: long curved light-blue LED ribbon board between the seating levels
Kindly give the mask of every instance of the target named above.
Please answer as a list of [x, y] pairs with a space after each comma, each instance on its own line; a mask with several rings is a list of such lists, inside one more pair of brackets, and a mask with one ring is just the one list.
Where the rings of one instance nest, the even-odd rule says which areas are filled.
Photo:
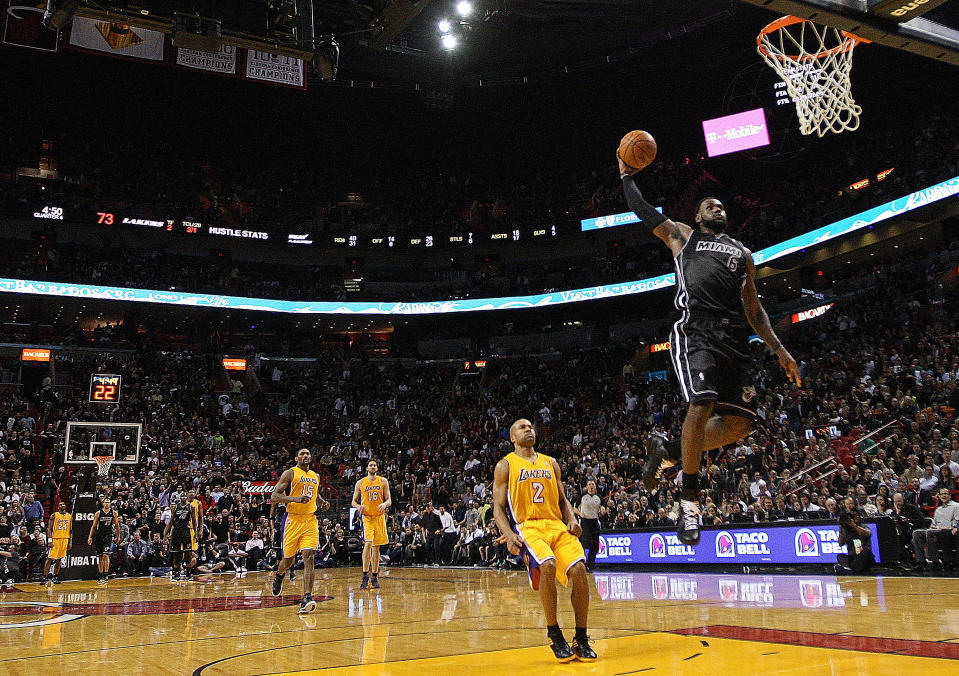
[[[919, 209], [934, 202], [953, 197], [956, 194], [959, 194], [959, 176], [756, 251], [753, 253], [753, 261], [756, 265], [763, 265], [777, 258], [801, 251], [807, 247], [817, 246], [823, 242], [848, 235], [849, 233], [856, 232], [857, 230], [893, 218], [894, 216], [900, 216], [914, 209]], [[605, 218], [611, 217], [607, 216]], [[231, 310], [257, 310], [260, 312], [303, 315], [425, 315], [448, 314], [452, 312], [517, 310], [545, 307], [548, 305], [579, 303], [587, 300], [615, 298], [618, 296], [630, 296], [648, 291], [656, 291], [673, 286], [675, 283], [676, 275], [670, 273], [633, 282], [591, 286], [584, 289], [571, 289], [569, 291], [556, 291], [531, 296], [503, 296], [499, 298], [392, 303], [363, 301], [289, 301], [270, 298], [179, 293], [153, 289], [128, 289], [115, 286], [93, 286], [89, 284], [62, 284], [59, 282], [39, 282], [29, 279], [9, 278], [0, 278], [0, 293], [23, 293], [92, 300], [122, 300], [137, 303], [164, 303], [167, 305], [195, 307], [221, 307]]]

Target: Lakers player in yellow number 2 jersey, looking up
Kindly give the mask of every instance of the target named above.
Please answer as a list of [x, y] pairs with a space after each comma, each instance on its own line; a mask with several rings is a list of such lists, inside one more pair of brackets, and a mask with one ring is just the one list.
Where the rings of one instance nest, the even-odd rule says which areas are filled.
[[[592, 662], [589, 645], [589, 578], [579, 535], [583, 532], [559, 473], [559, 464], [536, 452], [536, 430], [521, 418], [509, 428], [513, 452], [496, 463], [493, 473], [493, 517], [512, 554], [522, 553], [530, 585], [539, 589], [546, 613], [546, 636], [560, 662]], [[556, 580], [571, 586], [576, 619], [573, 645], [566, 642], [556, 620]]]

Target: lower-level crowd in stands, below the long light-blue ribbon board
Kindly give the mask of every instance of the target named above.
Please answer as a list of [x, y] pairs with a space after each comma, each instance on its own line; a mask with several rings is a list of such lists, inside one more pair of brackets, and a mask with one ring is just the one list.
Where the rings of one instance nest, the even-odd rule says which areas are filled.
[[[923, 549], [920, 537], [916, 557], [906, 545], [938, 514], [938, 491], [957, 490], [956, 262], [947, 250], [850, 272], [845, 300], [783, 333], [801, 389], [756, 348], [756, 429], [709, 453], [705, 524], [835, 519], [852, 509], [897, 520], [904, 562], [954, 565], [948, 529], [937, 531], [936, 546]], [[496, 543], [491, 478], [521, 416], [535, 423], [539, 449], [558, 458], [574, 505], [587, 481], [596, 482], [603, 528], [672, 528], [675, 479], [664, 476], [650, 493], [641, 478], [647, 436], [677, 435], [685, 404], [670, 383], [632, 369], [636, 347], [613, 341], [504, 357], [469, 378], [455, 365], [334, 350], [232, 380], [212, 356], [189, 350], [58, 357], [36, 393], [0, 389], [0, 565], [14, 578], [37, 570], [43, 518], [58, 497], [70, 500], [78, 480], [63, 463], [65, 424], [105, 418], [143, 423], [140, 462], [114, 465], [98, 488], [121, 516], [121, 574], [166, 571], [162, 531], [185, 490], [203, 505], [201, 570], [274, 565], [268, 496], [246, 494], [242, 482], [275, 481], [300, 447], [313, 451], [334, 505], [320, 515], [320, 565], [355, 560], [348, 499], [370, 458], [391, 484], [383, 553], [392, 563], [511, 565]], [[100, 370], [124, 377], [120, 404], [107, 410], [86, 401], [89, 373]], [[888, 422], [872, 441], [849, 444], [855, 430]], [[830, 427], [838, 438], [824, 431]], [[804, 472], [828, 458], [839, 465], [828, 477]]]

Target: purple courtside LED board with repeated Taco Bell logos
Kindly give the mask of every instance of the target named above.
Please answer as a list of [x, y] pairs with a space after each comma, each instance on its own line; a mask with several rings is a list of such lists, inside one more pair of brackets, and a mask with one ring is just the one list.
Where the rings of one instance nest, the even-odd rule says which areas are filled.
[[[872, 551], [880, 561], [876, 524], [867, 523]], [[839, 526], [726, 527], [703, 530], [698, 545], [679, 541], [675, 531], [606, 533], [599, 536], [597, 563], [836, 563], [845, 554]]]

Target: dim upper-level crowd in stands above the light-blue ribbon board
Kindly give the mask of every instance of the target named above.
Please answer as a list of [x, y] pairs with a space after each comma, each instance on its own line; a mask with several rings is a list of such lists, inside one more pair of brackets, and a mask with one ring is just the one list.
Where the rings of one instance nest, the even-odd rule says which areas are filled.
[[[831, 152], [806, 158], [799, 175], [790, 165], [788, 171], [770, 167], [765, 180], [730, 180], [717, 178], [709, 160], [664, 155], [642, 173], [640, 183], [650, 201], [664, 205], [666, 213], [681, 220], [690, 220], [699, 197], [719, 195], [731, 214], [730, 234], [756, 250], [956, 176], [959, 153], [954, 142], [943, 139], [957, 138], [957, 119], [946, 111], [930, 111], [916, 121], [908, 139], [899, 129], [868, 136], [842, 135], [833, 140]], [[502, 175], [381, 177], [360, 191], [365, 197], [357, 198], [356, 204], [365, 206], [354, 207], [344, 207], [332, 198], [317, 202], [316, 181], [304, 181], [298, 173], [283, 180], [277, 172], [264, 170], [256, 173], [257, 188], [251, 192], [258, 202], [254, 204], [238, 196], [244, 189], [232, 180], [217, 179], [209, 162], [183, 166], [184, 158], [171, 156], [151, 162], [147, 175], [131, 159], [144, 154], [136, 148], [113, 149], [119, 157], [104, 162], [88, 147], [93, 139], [69, 135], [55, 140], [52, 149], [44, 152], [63, 156], [58, 171], [70, 180], [49, 187], [16, 180], [12, 167], [29, 157], [33, 158], [30, 162], [38, 160], [36, 151], [31, 154], [24, 149], [25, 139], [15, 140], [16, 144], [11, 138], [5, 154], [0, 155], [0, 167], [11, 167], [9, 173], [0, 171], [0, 177], [6, 177], [0, 178], [0, 212], [6, 214], [23, 215], [25, 209], [39, 208], [36, 205], [52, 199], [68, 214], [87, 213], [91, 218], [97, 211], [125, 210], [135, 217], [194, 218], [207, 225], [266, 228], [293, 223], [312, 232], [318, 241], [331, 242], [334, 235], [349, 234], [409, 237], [431, 233], [442, 239], [448, 234], [529, 224], [556, 226], [560, 233], [568, 234], [578, 232], [581, 218], [626, 211], [612, 162], [585, 174], [557, 170], [555, 175], [540, 174], [524, 181]], [[910, 145], [904, 147], [907, 141]], [[101, 145], [113, 148], [115, 144]], [[91, 158], [98, 161], [91, 163]], [[877, 181], [876, 175], [887, 169], [892, 171]], [[866, 187], [848, 187], [870, 177]], [[736, 184], [737, 180], [742, 184]], [[530, 256], [535, 256], [530, 251], [483, 263], [461, 260], [448, 265], [445, 257], [438, 257], [442, 263], [416, 271], [409, 266], [378, 269], [370, 262], [366, 283], [391, 283], [393, 290], [371, 287], [350, 295], [338, 265], [213, 260], [135, 246], [77, 247], [46, 242], [38, 248], [36, 243], [8, 241], [4, 244], [11, 255], [0, 264], [0, 274], [292, 300], [395, 299], [395, 289], [401, 288], [404, 300], [436, 300], [577, 288], [670, 271], [669, 258], [659, 247], [650, 246], [648, 238], [628, 228], [623, 231], [629, 242], [613, 250], [605, 245], [593, 250], [578, 242], [569, 255], [553, 260], [536, 257], [536, 265], [529, 264]], [[416, 284], [396, 286], [409, 282]]]

